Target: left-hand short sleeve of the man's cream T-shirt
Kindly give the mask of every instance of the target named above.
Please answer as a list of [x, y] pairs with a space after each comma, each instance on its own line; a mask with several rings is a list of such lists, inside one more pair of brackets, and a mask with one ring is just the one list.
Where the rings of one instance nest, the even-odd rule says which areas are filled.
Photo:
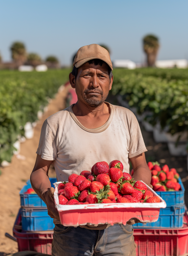
[[55, 160], [57, 157], [56, 138], [47, 120], [44, 121], [44, 124], [42, 126], [39, 147], [36, 153], [45, 160]]

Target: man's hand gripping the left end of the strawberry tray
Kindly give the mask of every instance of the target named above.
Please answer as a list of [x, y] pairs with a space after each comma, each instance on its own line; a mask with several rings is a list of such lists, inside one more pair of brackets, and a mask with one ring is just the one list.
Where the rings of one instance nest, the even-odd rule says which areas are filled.
[[44, 202], [47, 205], [48, 215], [51, 218], [55, 218], [57, 220], [60, 220], [59, 213], [58, 213], [57, 209], [55, 208], [54, 191], [55, 191], [54, 187], [51, 187], [48, 191], [46, 191], [43, 194]]

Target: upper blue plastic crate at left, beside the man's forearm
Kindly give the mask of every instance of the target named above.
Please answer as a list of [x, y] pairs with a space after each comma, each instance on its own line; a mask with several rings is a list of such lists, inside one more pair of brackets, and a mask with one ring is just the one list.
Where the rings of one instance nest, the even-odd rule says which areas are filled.
[[[56, 181], [57, 181], [56, 178], [50, 178], [51, 186], [54, 186], [53, 183], [55, 183]], [[27, 181], [27, 185], [25, 185], [19, 193], [21, 206], [22, 207], [46, 207], [46, 204], [44, 203], [44, 201], [41, 198], [39, 198], [37, 194], [24, 194], [24, 192], [26, 192], [28, 188], [31, 188], [30, 180]]]

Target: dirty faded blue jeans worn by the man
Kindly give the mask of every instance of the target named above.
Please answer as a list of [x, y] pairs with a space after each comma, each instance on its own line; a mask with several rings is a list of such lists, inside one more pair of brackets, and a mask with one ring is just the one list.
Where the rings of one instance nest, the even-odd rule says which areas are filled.
[[115, 224], [104, 230], [55, 225], [52, 256], [135, 256], [132, 225]]

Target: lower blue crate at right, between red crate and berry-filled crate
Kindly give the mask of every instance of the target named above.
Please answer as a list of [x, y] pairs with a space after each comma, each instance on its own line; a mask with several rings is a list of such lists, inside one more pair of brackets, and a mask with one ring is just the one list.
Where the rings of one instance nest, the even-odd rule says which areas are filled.
[[171, 205], [160, 209], [159, 219], [156, 222], [136, 223], [133, 228], [180, 228], [183, 226], [183, 216], [185, 214], [185, 204]]

